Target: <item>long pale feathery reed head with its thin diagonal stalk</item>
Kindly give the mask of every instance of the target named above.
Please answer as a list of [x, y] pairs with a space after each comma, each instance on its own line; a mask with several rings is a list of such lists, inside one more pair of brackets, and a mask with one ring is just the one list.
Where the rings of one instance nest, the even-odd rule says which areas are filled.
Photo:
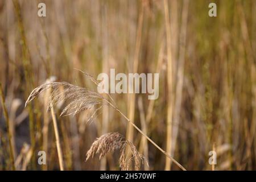
[[[92, 76], [88, 75], [87, 73], [84, 73], [84, 75], [86, 77], [89, 77], [90, 80], [94, 82], [94, 84], [98, 85], [97, 81]], [[58, 92], [59, 86], [63, 86], [64, 88], [62, 93]], [[107, 94], [108, 98], [105, 98], [100, 93], [90, 91], [86, 88], [81, 88], [80, 86], [69, 84], [68, 82], [51, 82], [51, 83], [40, 85], [38, 86], [38, 88], [35, 88], [34, 90], [32, 90], [30, 96], [26, 101], [25, 107], [29, 102], [34, 100], [36, 96], [38, 96], [44, 90], [47, 90], [49, 88], [52, 88], [53, 92], [49, 98], [49, 104], [48, 104], [47, 110], [51, 110], [51, 108], [54, 105], [56, 105], [57, 102], [61, 102], [61, 101], [69, 101], [69, 104], [65, 106], [65, 108], [63, 109], [60, 115], [63, 115], [63, 114], [76, 115], [77, 113], [80, 113], [80, 111], [82, 110], [91, 110], [94, 106], [109, 105], [118, 113], [120, 113], [126, 119], [126, 121], [129, 122], [136, 130], [138, 130], [139, 133], [141, 133], [148, 141], [150, 141], [156, 148], [158, 148], [160, 152], [162, 152], [164, 155], [170, 158], [172, 162], [174, 162], [183, 171], [186, 171], [186, 169], [183, 166], [181, 166], [179, 162], [177, 162], [174, 158], [172, 158], [170, 154], [164, 151], [161, 147], [158, 146], [158, 144], [156, 144], [152, 139], [150, 139], [146, 134], [144, 134], [141, 129], [139, 129], [133, 122], [131, 122], [130, 119], [127, 118], [126, 115], [123, 114], [122, 111], [119, 110], [117, 106], [115, 106], [113, 98], [110, 96], [110, 94]], [[96, 112], [97, 111], [98, 110], [96, 110]]]

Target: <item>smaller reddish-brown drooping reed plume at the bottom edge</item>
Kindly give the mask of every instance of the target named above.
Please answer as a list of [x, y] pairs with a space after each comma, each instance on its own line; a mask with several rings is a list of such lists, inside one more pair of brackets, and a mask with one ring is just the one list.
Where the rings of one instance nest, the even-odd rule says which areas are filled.
[[[129, 146], [131, 150], [132, 157], [127, 159], [125, 155], [126, 147]], [[112, 153], [115, 150], [120, 150], [121, 155], [119, 158], [119, 167], [121, 170], [133, 169], [132, 163], [134, 162], [134, 169], [139, 170], [141, 168], [141, 162], [148, 162], [143, 155], [139, 154], [136, 147], [132, 142], [126, 140], [123, 135], [119, 133], [106, 133], [100, 138], [97, 138], [86, 154], [86, 160], [90, 157], [93, 158], [94, 154], [100, 154], [100, 159], [103, 158], [109, 151]]]

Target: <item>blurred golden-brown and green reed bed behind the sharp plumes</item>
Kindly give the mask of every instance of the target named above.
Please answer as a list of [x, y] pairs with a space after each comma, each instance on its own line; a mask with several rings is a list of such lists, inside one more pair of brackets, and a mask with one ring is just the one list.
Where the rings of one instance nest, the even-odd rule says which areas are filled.
[[[46, 17], [37, 15], [40, 2]], [[210, 2], [217, 17], [208, 15]], [[255, 12], [254, 0], [1, 0], [0, 82], [10, 126], [1, 105], [0, 170], [11, 169], [8, 133], [16, 169], [59, 169], [47, 92], [25, 109], [24, 102], [47, 79], [97, 90], [74, 68], [95, 78], [110, 68], [159, 73], [157, 100], [112, 94], [118, 108], [186, 169], [212, 169], [214, 150], [216, 170], [255, 170]], [[94, 139], [108, 132], [135, 144], [150, 164], [142, 169], [179, 170], [113, 109], [90, 125], [88, 117], [57, 116], [66, 170], [119, 170], [118, 151], [85, 162]], [[38, 164], [40, 150], [47, 165]]]

